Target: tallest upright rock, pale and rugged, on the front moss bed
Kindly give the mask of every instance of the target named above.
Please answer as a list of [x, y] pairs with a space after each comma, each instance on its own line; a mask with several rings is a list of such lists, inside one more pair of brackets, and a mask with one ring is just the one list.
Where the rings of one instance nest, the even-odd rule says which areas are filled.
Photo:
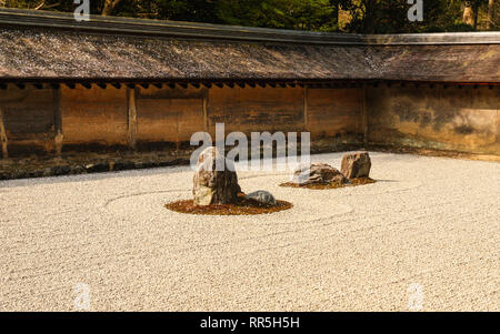
[[[220, 171], [217, 170], [218, 165], [222, 166]], [[217, 148], [204, 149], [198, 158], [194, 171], [192, 186], [194, 204], [231, 204], [236, 202], [239, 192], [241, 189], [233, 163]]]

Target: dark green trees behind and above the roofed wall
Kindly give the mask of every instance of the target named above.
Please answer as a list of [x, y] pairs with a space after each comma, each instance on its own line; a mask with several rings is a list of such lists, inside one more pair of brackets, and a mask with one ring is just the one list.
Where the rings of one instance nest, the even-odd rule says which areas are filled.
[[[396, 33], [500, 30], [500, 0], [90, 0], [91, 13], [311, 31]], [[73, 0], [0, 0], [0, 7], [71, 12]]]

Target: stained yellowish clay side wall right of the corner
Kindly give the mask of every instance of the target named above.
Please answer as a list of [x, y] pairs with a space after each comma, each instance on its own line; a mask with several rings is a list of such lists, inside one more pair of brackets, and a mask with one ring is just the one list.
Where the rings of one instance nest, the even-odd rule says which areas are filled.
[[414, 85], [367, 90], [370, 143], [500, 154], [500, 89]]

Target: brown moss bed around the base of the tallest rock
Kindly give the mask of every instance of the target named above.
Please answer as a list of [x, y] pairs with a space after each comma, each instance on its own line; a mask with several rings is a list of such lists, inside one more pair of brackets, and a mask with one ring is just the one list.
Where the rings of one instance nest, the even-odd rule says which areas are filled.
[[238, 196], [234, 204], [210, 204], [197, 205], [193, 200], [181, 200], [164, 205], [167, 209], [189, 214], [207, 215], [251, 215], [273, 213], [293, 208], [293, 204], [287, 201], [276, 201], [276, 205], [262, 204], [256, 200]]

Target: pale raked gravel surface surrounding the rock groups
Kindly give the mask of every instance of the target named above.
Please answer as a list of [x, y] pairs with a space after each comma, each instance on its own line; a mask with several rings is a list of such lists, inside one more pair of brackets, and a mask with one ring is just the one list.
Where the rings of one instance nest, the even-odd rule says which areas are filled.
[[92, 311], [407, 311], [411, 284], [424, 311], [500, 311], [500, 164], [370, 155], [356, 188], [240, 172], [294, 204], [253, 216], [164, 209], [189, 168], [2, 181], [0, 311], [74, 310], [79, 283]]

